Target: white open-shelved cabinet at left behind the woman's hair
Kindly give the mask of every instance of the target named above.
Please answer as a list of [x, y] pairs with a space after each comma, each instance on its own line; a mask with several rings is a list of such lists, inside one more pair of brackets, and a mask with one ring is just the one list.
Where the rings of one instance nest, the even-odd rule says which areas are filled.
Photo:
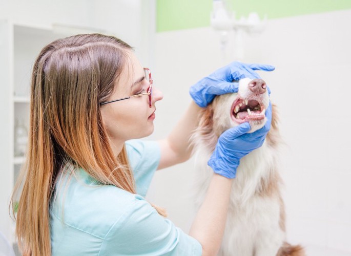
[[[93, 31], [62, 26], [45, 28], [0, 20], [0, 231], [11, 243], [15, 242], [15, 224], [9, 215], [9, 203], [25, 159], [19, 154], [22, 149], [16, 150], [15, 124], [25, 126], [28, 132], [32, 65], [49, 42], [89, 32]], [[23, 131], [19, 133], [23, 134]], [[23, 143], [25, 137], [22, 136], [19, 143]]]

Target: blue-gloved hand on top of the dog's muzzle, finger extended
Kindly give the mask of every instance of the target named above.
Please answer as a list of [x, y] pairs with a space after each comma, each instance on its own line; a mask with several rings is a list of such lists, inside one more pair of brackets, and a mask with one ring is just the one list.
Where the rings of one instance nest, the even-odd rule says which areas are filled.
[[[238, 81], [242, 78], [261, 78], [255, 70], [273, 71], [275, 67], [263, 64], [246, 64], [234, 61], [202, 78], [190, 88], [190, 95], [196, 104], [204, 108], [216, 95], [237, 93]], [[268, 89], [270, 93], [270, 89]]]

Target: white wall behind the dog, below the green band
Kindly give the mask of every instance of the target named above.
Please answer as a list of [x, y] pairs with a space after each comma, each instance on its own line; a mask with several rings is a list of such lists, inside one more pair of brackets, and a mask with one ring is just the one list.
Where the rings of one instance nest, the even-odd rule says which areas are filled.
[[[245, 62], [276, 66], [260, 74], [287, 144], [281, 173], [288, 241], [308, 255], [351, 255], [350, 26], [351, 10], [336, 11], [272, 19], [261, 35], [245, 39]], [[155, 47], [154, 84], [164, 99], [151, 138], [163, 138], [187, 108], [191, 84], [235, 56], [232, 45], [223, 61], [211, 28], [157, 33]], [[149, 191], [185, 231], [194, 217], [192, 173], [192, 161], [157, 172]]]

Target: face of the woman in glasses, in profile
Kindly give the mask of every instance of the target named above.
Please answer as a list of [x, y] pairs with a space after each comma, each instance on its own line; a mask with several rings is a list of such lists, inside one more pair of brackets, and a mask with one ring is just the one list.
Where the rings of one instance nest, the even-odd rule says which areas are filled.
[[[115, 90], [109, 100], [129, 97], [147, 92], [150, 83], [144, 78], [144, 70], [134, 53], [130, 53], [130, 65], [120, 74]], [[142, 138], [154, 131], [155, 103], [163, 94], [152, 87], [152, 107], [149, 96], [143, 95], [101, 106], [102, 121], [110, 139], [119, 146], [126, 140]]]

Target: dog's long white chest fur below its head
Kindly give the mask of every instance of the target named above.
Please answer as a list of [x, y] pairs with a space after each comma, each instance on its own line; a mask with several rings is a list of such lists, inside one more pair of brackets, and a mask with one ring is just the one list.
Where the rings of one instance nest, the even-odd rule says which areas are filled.
[[[198, 144], [196, 150], [197, 205], [203, 201], [213, 170], [207, 165], [210, 152]], [[219, 255], [276, 255], [285, 234], [283, 205], [279, 193], [277, 156], [267, 143], [240, 160], [233, 180], [231, 201]], [[274, 184], [272, 184], [274, 183]]]

